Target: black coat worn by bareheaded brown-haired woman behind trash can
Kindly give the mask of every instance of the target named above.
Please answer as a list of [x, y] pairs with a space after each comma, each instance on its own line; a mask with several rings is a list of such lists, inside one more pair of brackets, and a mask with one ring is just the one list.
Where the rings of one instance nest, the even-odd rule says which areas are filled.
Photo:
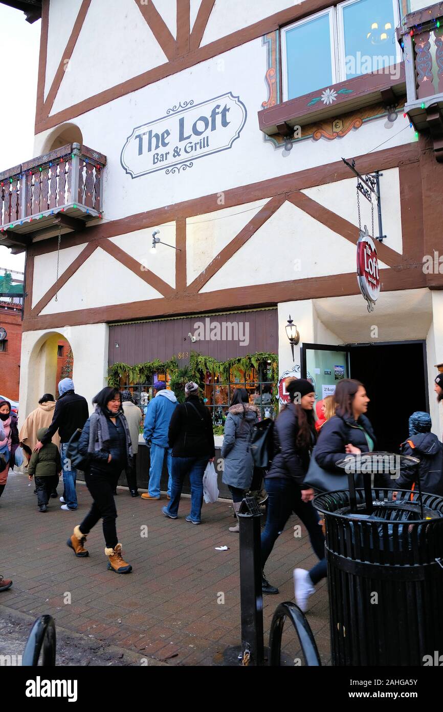
[[343, 474], [343, 470], [336, 467], [336, 463], [346, 457], [346, 445], [354, 445], [361, 452], [370, 451], [365, 433], [373, 441], [373, 449], [375, 449], [373, 427], [365, 415], [361, 415], [357, 421], [349, 415], [334, 415], [321, 426], [315, 449], [317, 463], [329, 472]]

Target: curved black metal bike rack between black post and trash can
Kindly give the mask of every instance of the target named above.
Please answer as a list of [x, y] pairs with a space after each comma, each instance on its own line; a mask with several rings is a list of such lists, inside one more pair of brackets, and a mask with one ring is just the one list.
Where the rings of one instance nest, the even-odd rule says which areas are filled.
[[289, 617], [299, 638], [301, 652], [306, 665], [311, 667], [321, 667], [319, 651], [311, 631], [311, 627], [306, 620], [306, 616], [290, 601], [280, 603], [275, 609], [272, 617], [271, 630], [269, 632], [269, 659], [268, 665], [272, 667], [281, 665], [282, 654], [282, 633], [284, 622]]

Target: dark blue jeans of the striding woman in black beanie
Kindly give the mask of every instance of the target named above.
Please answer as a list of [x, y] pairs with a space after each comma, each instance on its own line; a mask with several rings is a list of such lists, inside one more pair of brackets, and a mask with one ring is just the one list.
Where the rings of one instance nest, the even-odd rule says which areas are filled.
[[319, 515], [311, 502], [301, 499], [301, 489], [297, 482], [284, 477], [265, 477], [265, 487], [269, 495], [265, 530], [262, 533], [262, 567], [272, 552], [275, 540], [282, 533], [292, 512], [297, 514], [309, 533], [312, 548], [324, 559], [324, 535], [319, 525]]

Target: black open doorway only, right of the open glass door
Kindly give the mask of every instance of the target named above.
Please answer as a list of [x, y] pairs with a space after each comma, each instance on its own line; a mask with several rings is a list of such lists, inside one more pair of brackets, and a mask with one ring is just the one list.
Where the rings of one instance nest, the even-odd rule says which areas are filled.
[[425, 343], [352, 345], [350, 365], [351, 378], [364, 383], [370, 397], [377, 449], [397, 452], [409, 434], [410, 415], [429, 411]]

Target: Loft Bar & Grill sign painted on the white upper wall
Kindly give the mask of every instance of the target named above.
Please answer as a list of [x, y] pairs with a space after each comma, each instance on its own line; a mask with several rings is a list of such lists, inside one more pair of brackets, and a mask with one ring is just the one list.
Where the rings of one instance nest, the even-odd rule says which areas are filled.
[[120, 162], [132, 178], [165, 170], [185, 171], [198, 158], [229, 150], [240, 137], [247, 110], [227, 92], [200, 104], [178, 103], [154, 121], [132, 130]]

